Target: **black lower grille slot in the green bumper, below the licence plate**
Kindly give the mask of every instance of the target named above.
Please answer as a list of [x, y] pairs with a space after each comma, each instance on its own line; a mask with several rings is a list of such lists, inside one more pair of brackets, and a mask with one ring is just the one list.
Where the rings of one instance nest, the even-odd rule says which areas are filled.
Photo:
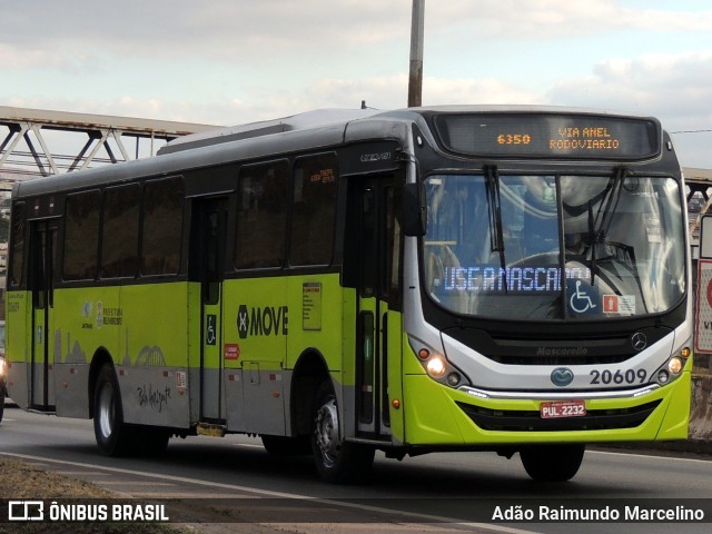
[[561, 432], [607, 431], [640, 426], [657, 407], [660, 400], [632, 408], [590, 409], [581, 417], [543, 419], [535, 411], [493, 411], [457, 403], [457, 406], [483, 431]]

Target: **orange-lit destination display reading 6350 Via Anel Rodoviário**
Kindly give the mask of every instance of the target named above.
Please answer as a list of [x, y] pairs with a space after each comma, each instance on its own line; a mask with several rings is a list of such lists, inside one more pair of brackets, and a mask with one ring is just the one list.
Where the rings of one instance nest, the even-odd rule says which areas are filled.
[[653, 118], [586, 113], [475, 113], [435, 117], [447, 151], [490, 158], [645, 160], [662, 149]]

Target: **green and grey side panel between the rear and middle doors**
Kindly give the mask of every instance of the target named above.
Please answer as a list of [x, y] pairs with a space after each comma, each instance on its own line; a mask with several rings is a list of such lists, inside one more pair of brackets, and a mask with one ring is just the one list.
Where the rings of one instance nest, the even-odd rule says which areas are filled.
[[167, 283], [55, 290], [48, 343], [57, 414], [89, 416], [89, 368], [98, 354], [106, 354], [117, 369], [127, 422], [185, 426], [187, 287]]

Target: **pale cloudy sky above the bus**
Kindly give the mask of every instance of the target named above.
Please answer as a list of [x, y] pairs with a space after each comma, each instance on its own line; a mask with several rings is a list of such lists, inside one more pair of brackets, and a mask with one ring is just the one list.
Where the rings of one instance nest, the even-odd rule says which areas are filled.
[[[407, 106], [412, 0], [0, 0], [0, 106], [234, 126]], [[712, 169], [709, 0], [425, 0], [423, 105], [657, 117]]]

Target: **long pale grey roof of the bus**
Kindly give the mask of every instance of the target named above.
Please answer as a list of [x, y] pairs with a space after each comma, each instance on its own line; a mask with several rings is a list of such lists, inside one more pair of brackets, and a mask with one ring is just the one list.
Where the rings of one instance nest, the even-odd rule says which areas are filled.
[[[18, 182], [13, 197], [31, 197], [81, 187], [99, 187], [121, 180], [169, 175], [188, 169], [222, 165], [236, 160], [315, 150], [343, 142], [368, 139], [395, 139], [417, 122], [429, 137], [425, 117], [437, 113], [581, 113], [643, 118], [586, 108], [550, 106], [437, 106], [377, 109], [323, 109], [281, 119], [216, 128], [178, 138], [159, 150], [158, 156], [65, 175]], [[646, 117], [649, 118], [649, 117]], [[429, 139], [428, 139], [429, 140]], [[433, 141], [433, 144], [435, 144]]]

